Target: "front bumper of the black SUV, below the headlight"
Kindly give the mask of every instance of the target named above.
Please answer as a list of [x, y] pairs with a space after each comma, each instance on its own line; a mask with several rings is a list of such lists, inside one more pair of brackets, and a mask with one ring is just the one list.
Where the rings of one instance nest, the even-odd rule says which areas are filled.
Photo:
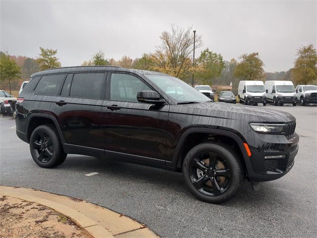
[[[286, 175], [294, 165], [294, 158], [299, 148], [299, 136], [296, 133], [288, 139], [284, 135], [258, 134], [258, 136], [263, 140], [256, 140], [257, 146], [254, 143], [249, 144], [251, 151], [250, 164], [247, 164], [249, 180], [263, 182]], [[269, 158], [272, 156], [275, 158]], [[281, 158], [278, 158], [280, 156]]]

